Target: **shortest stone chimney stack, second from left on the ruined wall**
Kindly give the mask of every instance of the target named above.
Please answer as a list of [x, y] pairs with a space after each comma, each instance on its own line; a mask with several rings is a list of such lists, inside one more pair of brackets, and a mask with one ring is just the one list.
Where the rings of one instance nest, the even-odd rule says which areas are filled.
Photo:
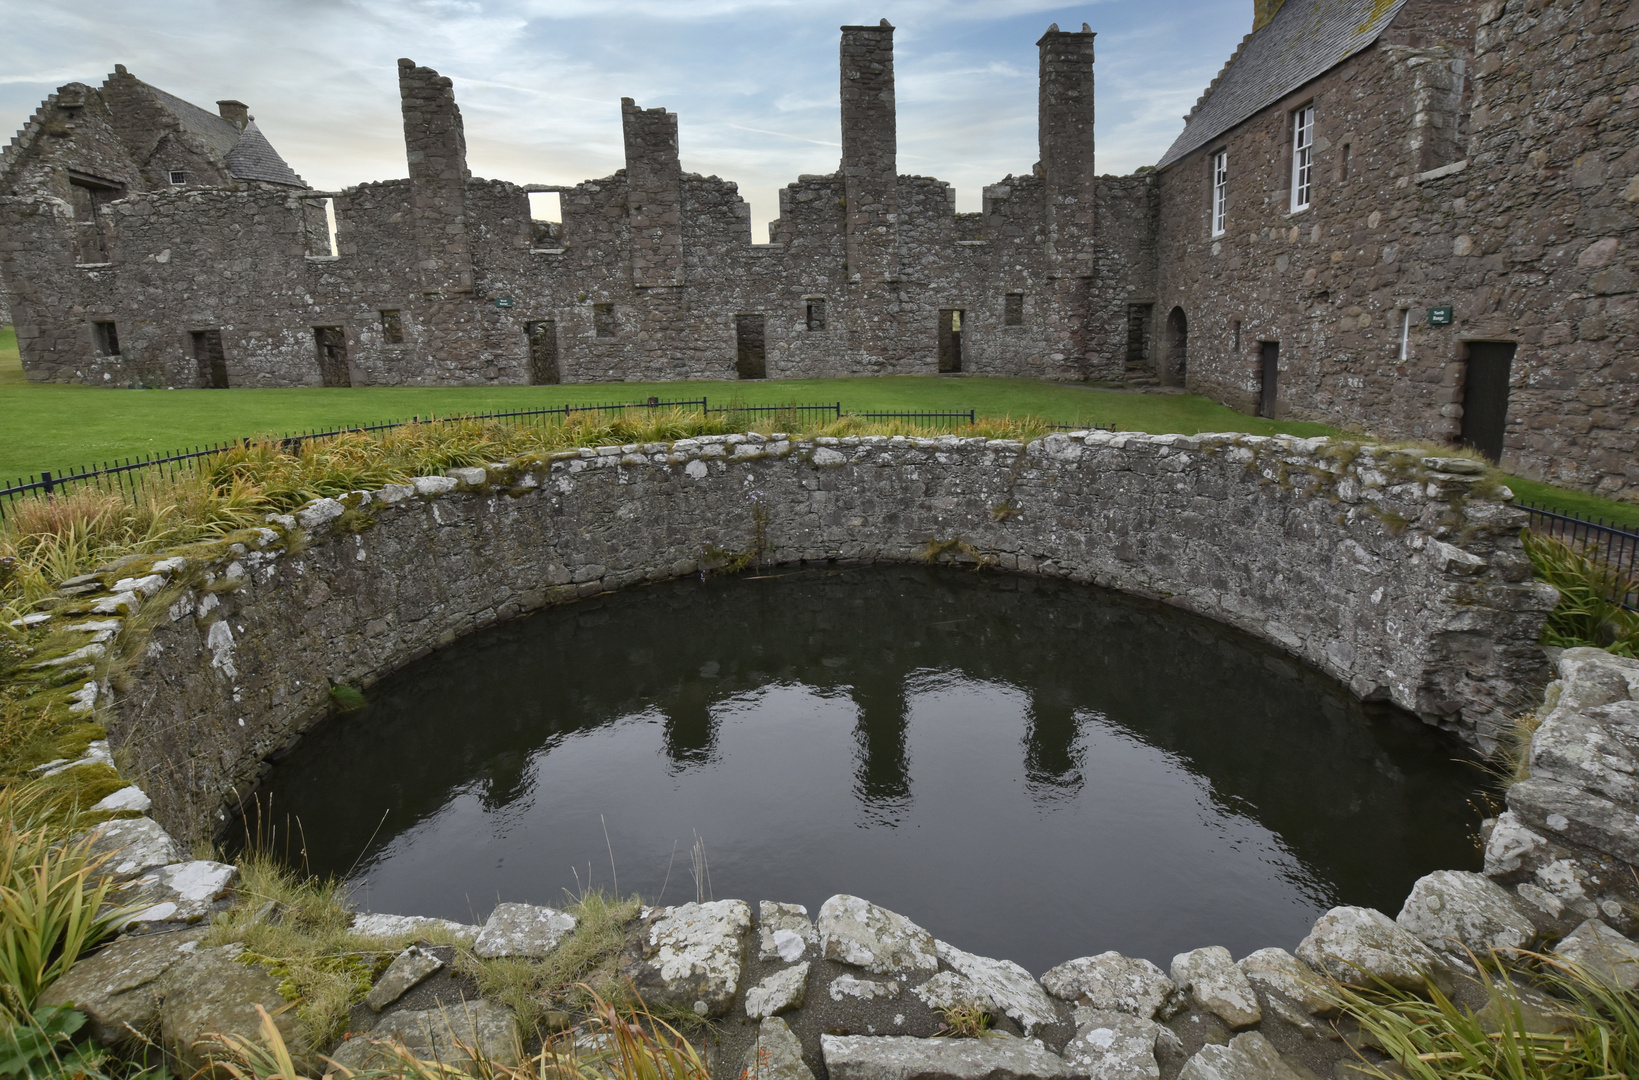
[[631, 284], [683, 284], [683, 167], [677, 156], [677, 113], [620, 100], [626, 134], [626, 220], [631, 228]]

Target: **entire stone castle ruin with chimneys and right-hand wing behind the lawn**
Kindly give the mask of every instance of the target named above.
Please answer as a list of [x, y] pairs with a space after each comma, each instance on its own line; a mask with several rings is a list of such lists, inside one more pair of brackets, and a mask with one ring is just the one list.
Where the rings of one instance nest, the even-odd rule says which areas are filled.
[[1095, 172], [1092, 28], [1049, 28], [1041, 161], [978, 213], [898, 174], [893, 28], [844, 26], [842, 159], [765, 244], [629, 98], [623, 170], [520, 187], [469, 174], [451, 82], [400, 61], [408, 179], [315, 192], [243, 103], [121, 67], [0, 159], [0, 293], [34, 380], [1165, 382], [1639, 493], [1639, 0], [1252, 15], [1131, 177]]

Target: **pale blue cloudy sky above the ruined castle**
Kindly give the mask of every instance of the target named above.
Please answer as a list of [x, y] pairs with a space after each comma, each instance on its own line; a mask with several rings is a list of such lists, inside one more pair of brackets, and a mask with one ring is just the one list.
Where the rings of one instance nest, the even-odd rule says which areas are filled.
[[1251, 29], [1252, 0], [0, 0], [0, 138], [116, 62], [205, 108], [251, 105], [318, 188], [405, 175], [395, 61], [456, 84], [474, 175], [620, 169], [620, 98], [680, 116], [683, 169], [775, 192], [839, 156], [838, 26], [897, 26], [900, 172], [980, 188], [1036, 161], [1036, 39], [1098, 31], [1098, 169], [1152, 164]]

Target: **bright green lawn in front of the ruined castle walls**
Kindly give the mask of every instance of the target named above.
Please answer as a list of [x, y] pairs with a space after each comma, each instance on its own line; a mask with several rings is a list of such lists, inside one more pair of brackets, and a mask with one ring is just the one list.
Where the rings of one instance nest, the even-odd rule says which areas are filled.
[[[16, 334], [0, 328], [0, 482], [115, 457], [187, 449], [243, 436], [547, 405], [708, 398], [713, 405], [816, 405], [844, 411], [965, 411], [1115, 424], [1121, 431], [1337, 434], [1324, 424], [1269, 421], [1187, 393], [1124, 393], [1033, 379], [782, 379], [774, 382], [626, 382], [565, 387], [357, 387], [351, 390], [103, 390], [30, 383]], [[1639, 528], [1639, 506], [1519, 477], [1532, 503]]]

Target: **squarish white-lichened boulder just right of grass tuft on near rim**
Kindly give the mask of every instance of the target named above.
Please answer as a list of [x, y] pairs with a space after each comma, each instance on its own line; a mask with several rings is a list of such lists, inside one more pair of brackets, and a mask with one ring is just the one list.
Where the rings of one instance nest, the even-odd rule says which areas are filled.
[[744, 900], [685, 903], [641, 916], [641, 954], [621, 973], [651, 1003], [669, 1003], [701, 1016], [721, 1016], [739, 993], [751, 933]]

